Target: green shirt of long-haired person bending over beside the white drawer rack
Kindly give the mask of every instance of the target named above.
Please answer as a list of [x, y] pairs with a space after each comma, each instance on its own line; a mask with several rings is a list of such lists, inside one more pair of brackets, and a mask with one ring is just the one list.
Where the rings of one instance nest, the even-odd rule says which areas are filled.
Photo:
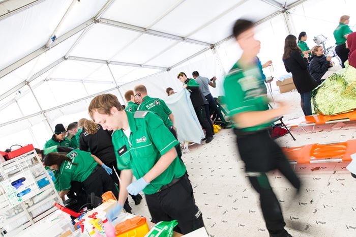
[[78, 149], [68, 153], [67, 157], [71, 158], [72, 163], [77, 163], [77, 165], [69, 161], [61, 164], [56, 177], [58, 184], [55, 185], [55, 188], [57, 191], [70, 190], [72, 181], [83, 182], [98, 165], [90, 153]]

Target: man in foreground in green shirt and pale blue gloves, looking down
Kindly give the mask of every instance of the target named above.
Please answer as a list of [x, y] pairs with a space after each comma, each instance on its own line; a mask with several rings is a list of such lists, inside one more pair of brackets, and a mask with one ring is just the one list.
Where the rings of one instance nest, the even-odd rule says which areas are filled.
[[114, 131], [112, 143], [122, 170], [120, 195], [107, 213], [109, 220], [121, 212], [128, 192], [136, 195], [143, 191], [152, 222], [177, 220], [176, 230], [183, 234], [204, 226], [186, 167], [174, 149], [178, 141], [157, 114], [127, 112], [112, 94], [96, 96], [88, 112], [104, 129]]

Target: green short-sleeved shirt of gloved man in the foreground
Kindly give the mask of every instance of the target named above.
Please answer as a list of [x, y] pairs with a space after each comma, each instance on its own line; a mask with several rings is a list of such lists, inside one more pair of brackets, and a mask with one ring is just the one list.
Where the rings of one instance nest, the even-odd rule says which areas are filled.
[[[138, 180], [179, 142], [155, 113], [147, 111], [144, 117], [134, 118], [133, 113], [127, 112], [127, 117], [131, 130], [130, 137], [127, 138], [122, 130], [116, 130], [112, 134], [112, 144], [117, 168], [131, 169]], [[183, 176], [185, 172], [186, 166], [177, 156], [163, 173], [143, 189], [143, 192], [154, 194], [163, 185]]]

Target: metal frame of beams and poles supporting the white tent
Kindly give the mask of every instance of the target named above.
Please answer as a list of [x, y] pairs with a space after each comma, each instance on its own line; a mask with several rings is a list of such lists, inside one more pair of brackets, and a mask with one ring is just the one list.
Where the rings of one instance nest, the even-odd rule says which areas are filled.
[[[0, 20], [5, 19], [6, 17], [12, 16], [14, 14], [17, 14], [25, 9], [28, 9], [36, 4], [40, 4], [41, 2], [44, 2], [46, 0], [8, 0], [5, 1], [3, 3], [0, 3]], [[273, 14], [259, 20], [256, 24], [261, 24], [265, 21], [268, 21], [280, 14], [284, 15], [284, 19], [285, 19], [285, 24], [286, 27], [289, 31], [289, 33], [292, 33], [292, 24], [289, 20], [288, 17], [288, 10], [295, 8], [296, 6], [306, 2], [307, 0], [298, 0], [295, 1], [293, 4], [290, 4], [288, 6], [283, 6], [282, 4], [276, 2], [275, 0], [260, 0], [261, 2], [264, 2], [266, 4], [271, 5], [272, 7], [276, 8], [276, 12], [274, 12]], [[52, 38], [55, 36], [56, 32], [58, 31], [58, 28], [61, 27], [61, 25], [63, 24], [65, 18], [67, 17], [67, 15], [69, 14], [69, 12], [72, 10], [73, 6], [76, 4], [77, 0], [73, 0], [72, 3], [70, 4], [69, 8], [67, 9], [66, 13], [64, 14], [64, 16], [62, 17], [62, 19], [60, 20], [60, 22], [58, 22], [57, 26], [55, 27], [50, 39], [48, 39], [47, 43], [42, 46], [41, 48], [33, 51], [32, 53], [29, 53], [28, 55], [25, 55], [24, 57], [22, 57], [20, 60], [18, 60], [17, 62], [9, 65], [8, 67], [0, 70], [0, 80], [6, 76], [7, 74], [13, 72], [14, 70], [18, 69], [19, 67], [23, 66], [24, 64], [28, 63], [29, 61], [33, 60], [34, 58], [40, 56], [41, 54], [45, 53], [46, 51], [48, 51], [49, 49], [60, 45], [62, 42], [66, 41], [67, 39], [69, 39], [70, 37], [74, 36], [77, 33], [80, 33], [80, 36], [78, 37], [78, 39], [73, 43], [73, 45], [70, 47], [70, 49], [68, 50], [68, 52], [66, 52], [66, 54], [61, 57], [58, 58], [58, 60], [54, 61], [53, 63], [51, 63], [50, 65], [48, 65], [47, 67], [41, 69], [40, 71], [34, 73], [31, 77], [29, 77], [28, 79], [20, 82], [18, 85], [12, 87], [10, 90], [8, 90], [6, 93], [4, 93], [3, 95], [0, 95], [0, 101], [7, 98], [8, 96], [14, 94], [15, 92], [19, 91], [22, 87], [24, 86], [28, 86], [29, 90], [27, 90], [25, 93], [20, 94], [19, 96], [16, 96], [11, 99], [10, 101], [8, 101], [7, 103], [3, 104], [2, 106], [0, 106], [0, 111], [5, 109], [6, 107], [8, 107], [9, 105], [11, 105], [12, 103], [17, 103], [17, 100], [19, 98], [21, 98], [22, 96], [24, 96], [25, 94], [31, 92], [33, 94], [33, 96], [35, 97], [38, 106], [40, 107], [40, 112], [28, 115], [28, 116], [24, 116], [20, 119], [17, 120], [13, 120], [13, 121], [9, 121], [7, 123], [3, 123], [0, 124], [0, 127], [6, 126], [8, 124], [12, 124], [12, 123], [16, 123], [18, 121], [22, 121], [25, 119], [28, 119], [29, 117], [33, 117], [33, 116], [37, 116], [39, 114], [43, 114], [49, 128], [52, 131], [50, 122], [48, 120], [48, 117], [46, 116], [46, 112], [58, 109], [58, 108], [62, 108], [64, 106], [76, 103], [78, 101], [82, 101], [82, 100], [86, 100], [88, 98], [92, 98], [96, 95], [102, 94], [102, 93], [106, 93], [106, 92], [111, 92], [113, 90], [117, 90], [119, 95], [121, 96], [121, 98], [124, 100], [122, 93], [120, 91], [120, 87], [127, 84], [121, 84], [118, 85], [117, 84], [117, 79], [118, 78], [114, 78], [114, 75], [110, 69], [110, 65], [121, 65], [121, 66], [128, 66], [128, 67], [132, 67], [133, 69], [135, 68], [149, 68], [149, 69], [157, 69], [160, 70], [158, 73], [155, 73], [153, 75], [149, 75], [143, 78], [139, 78], [133, 81], [138, 81], [138, 80], [143, 80], [146, 78], [149, 78], [151, 76], [155, 76], [164, 72], [168, 72], [171, 69], [191, 60], [191, 58], [196, 57], [206, 51], [212, 50], [213, 54], [215, 56], [217, 56], [219, 58], [219, 55], [217, 55], [217, 52], [215, 50], [215, 48], [219, 45], [221, 45], [222, 43], [224, 43], [225, 41], [229, 40], [232, 38], [232, 36], [227, 37], [215, 44], [213, 43], [209, 43], [209, 42], [202, 42], [202, 41], [198, 41], [198, 40], [194, 40], [194, 39], [190, 39], [189, 37], [199, 31], [200, 29], [203, 29], [206, 26], [211, 25], [213, 22], [215, 22], [216, 20], [220, 19], [221, 17], [223, 17], [225, 14], [231, 12], [232, 10], [234, 10], [235, 8], [238, 8], [239, 6], [241, 6], [242, 4], [246, 3], [247, 0], [242, 0], [239, 3], [236, 3], [234, 6], [232, 6], [231, 8], [227, 9], [226, 11], [224, 11], [223, 13], [221, 13], [220, 15], [216, 16], [215, 18], [211, 19], [208, 22], [205, 22], [203, 25], [199, 26], [197, 29], [195, 29], [194, 31], [192, 31], [190, 34], [186, 35], [186, 36], [178, 36], [178, 35], [172, 35], [172, 34], [168, 34], [168, 33], [164, 33], [164, 32], [159, 32], [159, 31], [155, 31], [153, 29], [151, 29], [151, 27], [153, 25], [155, 25], [157, 22], [159, 22], [160, 20], [162, 20], [165, 16], [167, 16], [170, 12], [172, 12], [174, 9], [176, 9], [178, 6], [180, 6], [183, 2], [185, 2], [185, 0], [181, 0], [180, 2], [178, 2], [177, 4], [175, 4], [174, 6], [172, 6], [171, 8], [169, 8], [164, 14], [162, 14], [160, 17], [158, 17], [154, 22], [152, 22], [149, 26], [147, 26], [146, 28], [140, 27], [140, 26], [136, 26], [136, 25], [130, 25], [127, 23], [123, 23], [123, 22], [118, 22], [118, 21], [114, 21], [114, 20], [110, 20], [110, 19], [105, 19], [102, 18], [101, 16], [104, 14], [104, 12], [110, 7], [110, 5], [114, 2], [114, 0], [108, 0], [106, 2], [106, 4], [103, 6], [102, 9], [100, 9], [100, 11], [91, 19], [85, 21], [84, 23], [74, 27], [73, 29], [71, 29], [70, 31], [66, 32], [65, 34], [63, 34], [62, 36], [56, 38], [55, 40], [52, 40]], [[159, 67], [159, 66], [153, 66], [153, 65], [146, 65], [147, 62], [143, 63], [143, 64], [133, 64], [133, 63], [127, 63], [127, 62], [116, 62], [116, 61], [105, 61], [105, 60], [99, 60], [97, 58], [86, 58], [86, 57], [78, 57], [78, 56], [73, 56], [71, 55], [71, 52], [73, 51], [73, 49], [79, 44], [79, 42], [81, 41], [81, 39], [85, 36], [85, 34], [90, 31], [90, 29], [93, 27], [94, 24], [105, 24], [105, 25], [109, 25], [112, 27], [119, 27], [119, 28], [124, 28], [128, 31], [134, 31], [134, 32], [138, 32], [140, 33], [140, 35], [138, 35], [135, 39], [133, 39], [130, 43], [128, 43], [127, 45], [125, 45], [123, 48], [121, 48], [117, 53], [121, 52], [122, 50], [124, 50], [125, 48], [127, 48], [128, 46], [130, 46], [133, 42], [135, 42], [139, 37], [141, 37], [143, 34], [148, 34], [148, 35], [153, 35], [156, 37], [161, 37], [161, 38], [166, 38], [166, 39], [170, 39], [170, 40], [174, 40], [175, 43], [173, 43], [172, 45], [170, 45], [169, 47], [165, 48], [164, 50], [162, 50], [161, 52], [159, 52], [158, 54], [154, 55], [152, 58], [150, 58], [150, 60], [148, 60], [147, 62], [153, 60], [154, 58], [160, 56], [163, 52], [165, 52], [166, 50], [168, 50], [169, 48], [172, 48], [173, 46], [175, 46], [177, 43], [179, 42], [185, 42], [185, 43], [190, 43], [190, 44], [196, 44], [196, 45], [202, 45], [205, 48], [194, 53], [193, 55], [185, 58], [184, 60], [170, 66], [170, 67]], [[116, 53], [116, 54], [117, 54]], [[68, 79], [68, 78], [45, 78], [42, 81], [38, 82], [35, 85], [31, 85], [30, 83], [33, 82], [36, 78], [38, 78], [39, 76], [43, 75], [45, 72], [55, 68], [57, 65], [61, 64], [63, 61], [66, 60], [73, 60], [73, 61], [82, 61], [82, 62], [92, 62], [92, 63], [98, 63], [98, 64], [106, 64], [111, 76], [112, 76], [112, 80], [113, 81], [94, 81], [94, 80], [85, 80], [85, 79]], [[114, 84], [115, 87], [100, 92], [100, 93], [96, 93], [93, 95], [88, 95], [87, 97], [66, 103], [66, 104], [62, 104], [62, 105], [58, 105], [56, 107], [47, 109], [47, 110], [43, 110], [41, 107], [40, 102], [38, 101], [36, 94], [34, 93], [33, 89], [40, 86], [41, 84], [43, 84], [46, 81], [67, 81], [67, 82], [80, 82], [84, 85], [85, 88], [85, 83], [110, 83], [110, 84]], [[132, 83], [133, 81], [130, 81], [128, 83]], [[86, 91], [86, 88], [85, 88]], [[86, 91], [87, 92], [87, 91]], [[124, 100], [125, 101], [125, 100]], [[21, 111], [21, 110], [20, 110]], [[21, 111], [22, 112], [22, 111]], [[30, 131], [31, 132], [31, 131]], [[32, 134], [32, 133], [31, 133]], [[32, 134], [33, 135], [33, 134]]]

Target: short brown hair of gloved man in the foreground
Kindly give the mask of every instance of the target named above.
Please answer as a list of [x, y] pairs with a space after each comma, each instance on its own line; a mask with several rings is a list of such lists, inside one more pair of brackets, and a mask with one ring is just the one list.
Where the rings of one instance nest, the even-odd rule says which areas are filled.
[[102, 94], [93, 98], [88, 107], [88, 113], [93, 119], [93, 112], [96, 110], [100, 114], [111, 114], [111, 108], [115, 107], [117, 110], [124, 110], [123, 106], [118, 102], [115, 95]]

